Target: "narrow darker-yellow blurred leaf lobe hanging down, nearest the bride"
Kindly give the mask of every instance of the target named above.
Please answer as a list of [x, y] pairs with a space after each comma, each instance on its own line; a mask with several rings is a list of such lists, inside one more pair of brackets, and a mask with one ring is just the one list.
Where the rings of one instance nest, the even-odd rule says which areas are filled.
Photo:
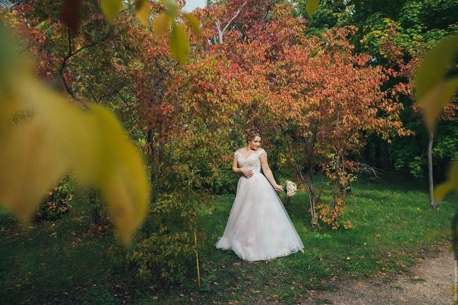
[[99, 156], [103, 159], [99, 164], [104, 163], [101, 172], [110, 173], [99, 180], [100, 189], [121, 237], [129, 241], [147, 211], [149, 186], [146, 168], [119, 120], [102, 106], [92, 105], [91, 110], [100, 131]]

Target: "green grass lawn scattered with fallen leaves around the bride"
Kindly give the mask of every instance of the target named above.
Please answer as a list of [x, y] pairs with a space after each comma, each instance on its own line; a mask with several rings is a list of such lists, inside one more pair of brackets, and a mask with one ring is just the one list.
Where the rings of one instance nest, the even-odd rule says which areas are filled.
[[[90, 219], [78, 207], [63, 220], [30, 227], [0, 210], [0, 303], [250, 304], [268, 298], [297, 304], [310, 290], [332, 289], [336, 278], [403, 271], [450, 240], [457, 196], [448, 195], [433, 212], [425, 183], [383, 178], [370, 188], [353, 186], [341, 215], [353, 223], [349, 230], [323, 225], [321, 232], [311, 232], [307, 198], [299, 192], [286, 208], [304, 252], [269, 262], [245, 262], [232, 251], [214, 248], [235, 195], [216, 198], [199, 211], [208, 237], [206, 251], [199, 253], [207, 291], [196, 288], [195, 265], [181, 285], [138, 281], [133, 271], [106, 255], [112, 235], [89, 234]], [[330, 198], [322, 196], [325, 202]]]

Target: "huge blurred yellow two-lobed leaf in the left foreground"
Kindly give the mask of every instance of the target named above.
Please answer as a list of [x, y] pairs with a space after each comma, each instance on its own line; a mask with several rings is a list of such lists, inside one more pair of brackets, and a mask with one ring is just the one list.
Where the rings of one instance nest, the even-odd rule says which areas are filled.
[[[10, 40], [2, 38], [0, 50], [8, 49]], [[4, 54], [13, 53], [0, 56], [0, 67], [17, 59]], [[15, 77], [9, 80], [5, 73]], [[0, 83], [0, 204], [26, 222], [48, 190], [73, 170], [83, 183], [101, 190], [122, 240], [129, 242], [146, 214], [149, 195], [135, 145], [107, 109], [88, 104], [89, 111], [82, 111], [32, 75], [25, 65], [0, 70], [0, 79], [6, 80]], [[27, 107], [30, 115], [17, 124], [10, 123], [14, 111], [4, 114]]]

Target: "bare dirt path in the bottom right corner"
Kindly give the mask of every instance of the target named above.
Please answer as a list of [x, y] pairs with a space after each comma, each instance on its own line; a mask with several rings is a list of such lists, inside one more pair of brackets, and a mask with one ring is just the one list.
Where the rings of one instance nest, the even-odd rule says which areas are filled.
[[373, 280], [337, 280], [336, 290], [313, 295], [302, 304], [449, 305], [453, 302], [454, 270], [453, 255], [441, 247], [440, 253], [428, 254], [407, 273]]

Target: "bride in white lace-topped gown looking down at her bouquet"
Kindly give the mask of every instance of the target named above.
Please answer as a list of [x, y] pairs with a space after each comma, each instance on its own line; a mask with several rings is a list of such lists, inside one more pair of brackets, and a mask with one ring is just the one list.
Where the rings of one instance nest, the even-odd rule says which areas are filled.
[[[246, 146], [234, 153], [232, 170], [242, 173], [217, 249], [232, 249], [247, 261], [270, 260], [304, 249], [287, 211], [275, 191], [275, 182], [261, 145], [260, 132], [246, 131]], [[261, 173], [261, 168], [264, 175]]]

